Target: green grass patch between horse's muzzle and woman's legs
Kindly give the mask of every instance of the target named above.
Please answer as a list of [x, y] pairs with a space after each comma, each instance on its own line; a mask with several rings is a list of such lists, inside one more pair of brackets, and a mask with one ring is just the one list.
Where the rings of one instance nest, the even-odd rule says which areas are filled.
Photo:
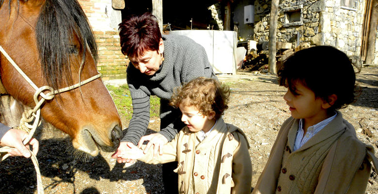
[[[124, 84], [120, 87], [106, 85], [111, 97], [113, 97], [115, 106], [118, 109], [118, 113], [121, 119], [130, 120], [133, 114], [133, 105], [131, 101], [130, 91], [128, 85]], [[150, 98], [150, 117], [158, 117], [160, 108], [160, 98], [151, 96]]]

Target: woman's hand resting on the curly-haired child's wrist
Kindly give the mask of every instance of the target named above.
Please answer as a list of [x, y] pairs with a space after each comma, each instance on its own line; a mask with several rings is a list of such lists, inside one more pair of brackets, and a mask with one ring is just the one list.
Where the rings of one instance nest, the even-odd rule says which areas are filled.
[[160, 155], [163, 155], [163, 146], [168, 143], [167, 138], [165, 138], [160, 133], [153, 133], [150, 135], [143, 136], [141, 140], [139, 140], [138, 147], [142, 148], [143, 142], [149, 141], [147, 146], [144, 148], [143, 153], [146, 154], [148, 149], [154, 145], [154, 158], [157, 156], [157, 152], [159, 152]]

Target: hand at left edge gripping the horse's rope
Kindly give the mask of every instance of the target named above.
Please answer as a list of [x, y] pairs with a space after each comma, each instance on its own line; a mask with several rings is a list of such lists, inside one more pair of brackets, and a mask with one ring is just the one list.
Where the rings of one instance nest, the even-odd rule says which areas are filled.
[[34, 155], [37, 155], [39, 143], [36, 139], [31, 138], [27, 145], [23, 144], [23, 141], [28, 137], [28, 133], [18, 129], [9, 129], [8, 132], [0, 140], [0, 146], [9, 146], [16, 149], [8, 151], [9, 156], [24, 156], [26, 158], [31, 157], [30, 146], [33, 148]]

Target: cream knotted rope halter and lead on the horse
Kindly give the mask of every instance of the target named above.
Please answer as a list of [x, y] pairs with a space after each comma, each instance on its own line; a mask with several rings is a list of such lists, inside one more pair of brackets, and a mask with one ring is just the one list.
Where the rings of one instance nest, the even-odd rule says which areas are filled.
[[[45, 102], [45, 100], [50, 100], [52, 99], [53, 97], [55, 97], [55, 94], [58, 94], [58, 93], [62, 93], [62, 92], [66, 92], [66, 91], [69, 91], [69, 90], [72, 90], [72, 89], [75, 89], [75, 88], [78, 88], [80, 87], [81, 85], [84, 85], [88, 82], [91, 82], [91, 81], [94, 81], [98, 78], [101, 77], [101, 73], [85, 80], [85, 81], [81, 81], [75, 85], [71, 85], [71, 86], [68, 86], [68, 87], [65, 87], [65, 88], [62, 88], [62, 89], [59, 89], [59, 90], [54, 90], [52, 87], [50, 86], [42, 86], [40, 88], [38, 88], [34, 83], [33, 81], [30, 80], [30, 78], [18, 67], [18, 65], [12, 60], [12, 58], [8, 55], [7, 52], [5, 52], [5, 50], [0, 46], [0, 51], [1, 53], [5, 56], [6, 59], [8, 59], [8, 61], [16, 68], [16, 70], [21, 74], [21, 76], [26, 80], [28, 81], [28, 83], [31, 85], [31, 87], [33, 87], [35, 89], [35, 93], [34, 93], [34, 102], [36, 104], [36, 106], [34, 107], [34, 109], [30, 109], [30, 110], [25, 110], [25, 112], [22, 114], [22, 118], [20, 120], [20, 127], [22, 128], [22, 130], [26, 131], [26, 132], [29, 132], [29, 135], [28, 137], [23, 141], [23, 144], [26, 145], [29, 143], [29, 141], [31, 140], [34, 132], [35, 132], [35, 129], [37, 129], [37, 127], [41, 124], [41, 120], [40, 120], [40, 115], [41, 115], [41, 105]], [[43, 93], [44, 91], [50, 91], [49, 93], [45, 94]], [[41, 96], [41, 100], [38, 101], [38, 96]], [[35, 119], [34, 119], [35, 118]], [[34, 122], [32, 125], [30, 125], [29, 123], [34, 119]], [[0, 153], [7, 153], [8, 150], [10, 149], [13, 149], [13, 147], [9, 147], [9, 146], [4, 146], [4, 147], [1, 147], [0, 148]], [[30, 150], [29, 150], [30, 151]], [[32, 151], [30, 151], [31, 153], [31, 161], [33, 162], [34, 164], [34, 168], [35, 168], [35, 171], [37, 173], [37, 190], [38, 190], [38, 194], [44, 194], [44, 187], [43, 187], [43, 183], [42, 183], [42, 178], [41, 178], [41, 173], [39, 171], [39, 164], [38, 164], [38, 161], [37, 161], [37, 157], [34, 155], [34, 153]], [[5, 154], [1, 161], [5, 160], [6, 158], [8, 158], [9, 154]]]

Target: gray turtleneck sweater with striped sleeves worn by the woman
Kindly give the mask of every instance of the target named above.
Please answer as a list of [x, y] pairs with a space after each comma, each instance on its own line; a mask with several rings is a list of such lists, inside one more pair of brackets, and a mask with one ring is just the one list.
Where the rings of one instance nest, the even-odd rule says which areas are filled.
[[150, 120], [150, 96], [160, 98], [160, 131], [171, 141], [185, 125], [181, 112], [168, 105], [173, 89], [196, 77], [216, 77], [205, 49], [182, 35], [163, 35], [164, 61], [153, 75], [142, 74], [131, 63], [127, 66], [127, 83], [131, 93], [133, 115], [122, 142], [137, 145], [146, 133]]

